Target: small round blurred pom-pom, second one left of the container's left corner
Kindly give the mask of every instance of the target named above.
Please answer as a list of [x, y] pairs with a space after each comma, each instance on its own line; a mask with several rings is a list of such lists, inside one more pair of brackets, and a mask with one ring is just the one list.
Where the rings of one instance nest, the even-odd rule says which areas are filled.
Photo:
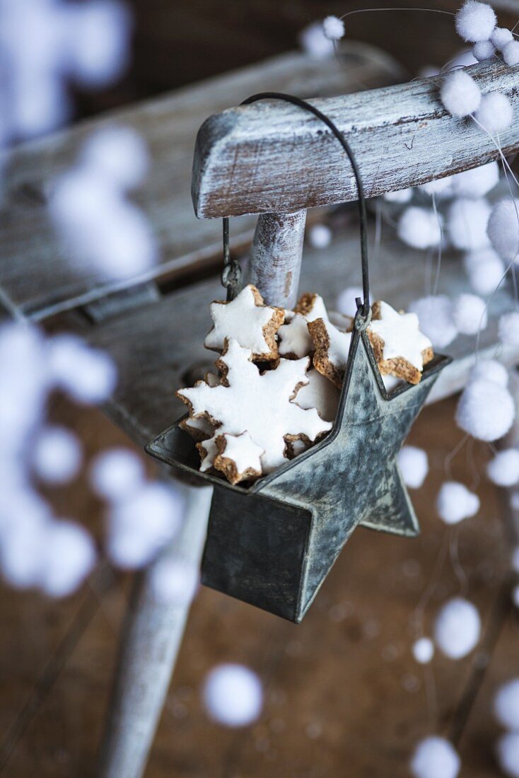
[[71, 481], [81, 467], [82, 451], [77, 437], [65, 427], [47, 427], [33, 446], [33, 468], [48, 483]]

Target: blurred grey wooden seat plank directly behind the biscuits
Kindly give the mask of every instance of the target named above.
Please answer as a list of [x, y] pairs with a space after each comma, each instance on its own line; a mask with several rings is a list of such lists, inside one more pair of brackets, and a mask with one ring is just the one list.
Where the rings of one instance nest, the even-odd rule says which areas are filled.
[[[373, 240], [373, 235], [370, 240]], [[346, 286], [359, 286], [359, 241], [356, 227], [335, 237], [325, 251], [304, 247], [301, 292], [318, 292], [333, 309], [337, 295]], [[405, 247], [391, 230], [383, 236], [383, 254], [371, 261], [373, 300], [384, 299], [395, 307], [407, 307], [425, 293], [425, 254]], [[391, 272], [387, 272], [391, 268]], [[459, 254], [444, 255], [440, 293], [454, 297], [468, 290], [468, 279]], [[215, 355], [204, 349], [211, 326], [209, 303], [223, 300], [219, 279], [209, 279], [165, 296], [160, 303], [145, 306], [97, 325], [92, 341], [107, 349], [120, 368], [120, 382], [108, 412], [126, 431], [146, 443], [165, 429], [184, 406], [174, 391], [188, 381], [188, 373], [202, 377]], [[514, 300], [507, 289], [496, 294], [489, 326], [482, 333], [481, 356], [496, 355], [505, 363], [519, 363], [519, 349], [497, 347], [496, 316], [512, 310]], [[460, 336], [445, 349], [454, 356], [434, 388], [431, 401], [458, 391], [475, 361], [475, 338]], [[204, 370], [205, 366], [205, 370]]]

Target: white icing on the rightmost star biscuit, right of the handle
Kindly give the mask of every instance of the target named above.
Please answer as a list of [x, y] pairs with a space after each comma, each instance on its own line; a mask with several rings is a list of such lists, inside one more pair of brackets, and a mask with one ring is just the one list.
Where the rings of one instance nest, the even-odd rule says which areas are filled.
[[385, 359], [401, 358], [417, 370], [423, 370], [422, 352], [432, 343], [419, 330], [416, 314], [399, 314], [391, 305], [380, 301], [380, 319], [371, 321], [369, 329], [384, 341]]

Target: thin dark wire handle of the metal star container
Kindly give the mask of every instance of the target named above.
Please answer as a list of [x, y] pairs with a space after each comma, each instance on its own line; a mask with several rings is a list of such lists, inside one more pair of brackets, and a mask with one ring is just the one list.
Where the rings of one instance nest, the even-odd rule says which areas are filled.
[[[369, 323], [370, 319], [370, 274], [367, 255], [367, 215], [366, 215], [366, 198], [364, 196], [364, 188], [362, 179], [359, 173], [359, 167], [357, 166], [355, 156], [352, 149], [346, 140], [345, 136], [338, 129], [331, 119], [323, 114], [321, 110], [316, 108], [311, 103], [307, 103], [306, 100], [301, 100], [300, 97], [284, 94], [281, 92], [260, 92], [258, 94], [247, 97], [240, 105], [249, 105], [255, 103], [258, 100], [284, 100], [286, 103], [292, 103], [303, 110], [310, 111], [310, 114], [314, 114], [318, 119], [324, 121], [324, 124], [331, 129], [335, 138], [342, 145], [348, 155], [349, 161], [352, 166], [353, 175], [356, 180], [357, 194], [359, 196], [359, 217], [360, 217], [360, 261], [362, 265], [363, 276], [363, 300], [359, 297], [356, 298], [357, 314], [362, 317], [364, 326]], [[222, 272], [222, 284], [227, 289], [227, 301], [233, 300], [237, 294], [237, 288], [240, 284], [241, 268], [237, 261], [230, 258], [230, 246], [229, 246], [229, 217], [223, 217], [223, 272]], [[357, 319], [357, 328], [363, 328], [363, 323]]]

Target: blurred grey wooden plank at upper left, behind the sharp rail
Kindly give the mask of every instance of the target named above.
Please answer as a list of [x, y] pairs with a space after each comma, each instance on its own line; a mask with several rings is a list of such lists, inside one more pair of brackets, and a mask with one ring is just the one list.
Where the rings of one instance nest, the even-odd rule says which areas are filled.
[[[13, 149], [5, 156], [2, 287], [24, 312], [41, 318], [159, 275], [200, 267], [220, 251], [220, 225], [198, 222], [189, 196], [195, 135], [209, 114], [258, 89], [331, 95], [394, 83], [401, 75], [395, 61], [363, 44], [349, 44], [343, 61], [284, 54]], [[135, 128], [149, 145], [152, 167], [139, 202], [161, 247], [159, 265], [117, 283], [97, 268], [70, 261], [57, 244], [45, 208], [54, 177], [72, 164], [83, 140], [114, 122]], [[253, 219], [234, 224], [233, 244], [251, 240], [253, 231]]]

